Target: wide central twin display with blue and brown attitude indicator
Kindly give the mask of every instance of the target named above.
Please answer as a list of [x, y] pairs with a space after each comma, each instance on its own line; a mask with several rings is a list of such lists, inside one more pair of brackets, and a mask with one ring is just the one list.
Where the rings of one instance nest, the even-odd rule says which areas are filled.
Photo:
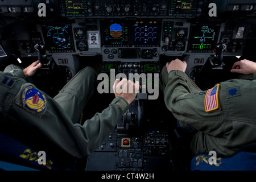
[[102, 43], [105, 47], [159, 47], [159, 19], [101, 20]]

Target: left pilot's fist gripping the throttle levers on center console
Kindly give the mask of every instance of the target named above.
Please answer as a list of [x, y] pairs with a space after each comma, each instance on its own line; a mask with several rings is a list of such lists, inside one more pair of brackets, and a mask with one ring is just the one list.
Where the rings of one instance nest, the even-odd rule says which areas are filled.
[[124, 98], [130, 105], [137, 96], [139, 90], [139, 81], [134, 83], [133, 81], [127, 80], [126, 78], [123, 78], [122, 81], [117, 79], [114, 82], [113, 90], [115, 97], [119, 96]]

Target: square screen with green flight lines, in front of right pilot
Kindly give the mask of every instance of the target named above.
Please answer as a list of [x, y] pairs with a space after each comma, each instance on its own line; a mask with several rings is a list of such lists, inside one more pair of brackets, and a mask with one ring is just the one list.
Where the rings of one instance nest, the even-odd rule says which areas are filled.
[[213, 52], [217, 40], [217, 25], [191, 26], [189, 50], [192, 52]]

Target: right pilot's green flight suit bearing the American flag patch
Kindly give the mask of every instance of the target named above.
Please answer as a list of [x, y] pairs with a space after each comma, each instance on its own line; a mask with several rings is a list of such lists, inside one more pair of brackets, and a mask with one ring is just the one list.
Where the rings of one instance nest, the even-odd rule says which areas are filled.
[[231, 155], [256, 142], [256, 72], [254, 80], [233, 79], [216, 85], [218, 107], [212, 111], [206, 108], [207, 92], [184, 72], [168, 73], [164, 67], [161, 77], [167, 108], [181, 126], [197, 130], [191, 140], [195, 154], [216, 151], [217, 155]]

